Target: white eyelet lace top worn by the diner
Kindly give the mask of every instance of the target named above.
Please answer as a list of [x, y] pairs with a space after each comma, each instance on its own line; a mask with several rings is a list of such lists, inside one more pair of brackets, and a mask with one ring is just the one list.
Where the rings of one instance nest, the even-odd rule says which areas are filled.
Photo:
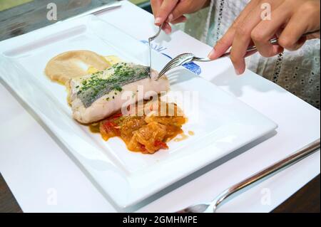
[[[193, 19], [185, 24], [184, 30], [213, 46], [249, 1], [212, 0], [210, 9], [192, 15]], [[285, 51], [285, 53], [273, 58], [263, 58], [259, 54], [255, 54], [248, 58], [247, 62], [250, 70], [281, 85], [320, 109], [319, 39], [307, 41], [305, 46], [298, 51]]]

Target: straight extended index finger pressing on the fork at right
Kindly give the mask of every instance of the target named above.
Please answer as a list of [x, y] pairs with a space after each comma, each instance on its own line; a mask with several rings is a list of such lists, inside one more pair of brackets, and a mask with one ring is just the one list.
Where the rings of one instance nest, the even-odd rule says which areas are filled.
[[223, 55], [232, 46], [233, 39], [235, 36], [235, 30], [238, 27], [240, 21], [243, 21], [245, 17], [252, 11], [256, 6], [258, 6], [259, 1], [250, 1], [250, 3], [241, 12], [240, 16], [235, 19], [233, 26], [231, 26], [228, 31], [224, 34], [222, 38], [215, 44], [213, 50], [209, 53], [208, 58], [215, 60]]

